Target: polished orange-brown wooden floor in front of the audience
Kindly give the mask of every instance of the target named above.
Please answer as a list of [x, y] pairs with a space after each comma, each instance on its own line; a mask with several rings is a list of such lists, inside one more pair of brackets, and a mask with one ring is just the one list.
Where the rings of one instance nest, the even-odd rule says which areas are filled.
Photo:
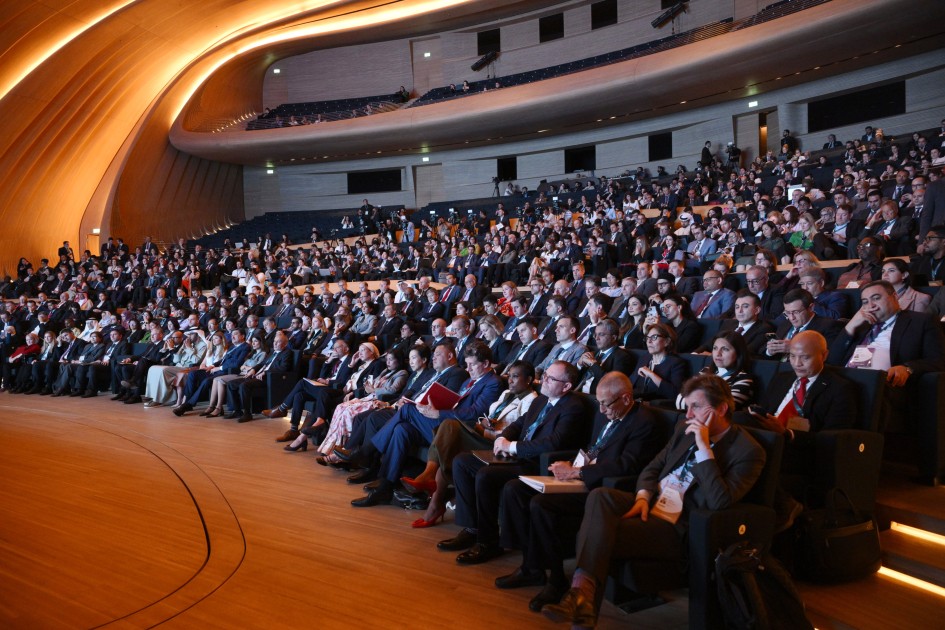
[[[449, 519], [415, 530], [414, 512], [351, 507], [358, 487], [274, 441], [286, 424], [0, 394], [0, 627], [563, 627], [529, 612], [537, 589], [493, 586], [518, 554], [460, 567], [435, 549]], [[815, 597], [820, 627], [890, 627], [849, 587]], [[607, 605], [601, 627], [685, 628], [672, 595], [632, 616]], [[938, 605], [897, 601], [902, 622]]]

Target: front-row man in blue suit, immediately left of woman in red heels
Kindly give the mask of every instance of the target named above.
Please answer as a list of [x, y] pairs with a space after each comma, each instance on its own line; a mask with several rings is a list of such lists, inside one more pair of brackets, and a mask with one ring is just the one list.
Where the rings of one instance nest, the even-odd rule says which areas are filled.
[[499, 398], [502, 380], [492, 370], [489, 347], [477, 340], [466, 347], [463, 355], [469, 380], [459, 390], [459, 402], [452, 409], [445, 410], [437, 410], [432, 405], [402, 406], [371, 440], [374, 447], [383, 453], [377, 487], [372, 488], [367, 496], [352, 501], [351, 505], [371, 507], [389, 503], [407, 455], [417, 446], [429, 445], [441, 422], [459, 420], [472, 426]]

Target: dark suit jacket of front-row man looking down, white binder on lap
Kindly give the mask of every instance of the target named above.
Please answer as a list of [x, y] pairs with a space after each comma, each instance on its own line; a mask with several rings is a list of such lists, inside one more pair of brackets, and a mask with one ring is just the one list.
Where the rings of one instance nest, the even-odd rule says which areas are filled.
[[[607, 417], [598, 411], [594, 417], [594, 431], [587, 446], [588, 451], [597, 444], [601, 433], [607, 428], [607, 422]], [[581, 469], [584, 485], [593, 490], [606, 477], [638, 475], [656, 457], [668, 437], [664, 425], [649, 407], [635, 404], [599, 447], [597, 461]]]

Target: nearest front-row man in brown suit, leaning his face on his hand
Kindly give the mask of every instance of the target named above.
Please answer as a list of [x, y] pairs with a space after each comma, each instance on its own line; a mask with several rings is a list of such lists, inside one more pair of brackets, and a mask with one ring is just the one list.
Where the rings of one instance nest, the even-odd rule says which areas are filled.
[[596, 488], [588, 495], [571, 588], [558, 604], [542, 608], [552, 621], [597, 625], [611, 561], [649, 558], [682, 565], [689, 512], [731, 507], [761, 475], [765, 451], [732, 424], [735, 401], [725, 381], [695, 376], [682, 395], [686, 421], [640, 474], [636, 494]]

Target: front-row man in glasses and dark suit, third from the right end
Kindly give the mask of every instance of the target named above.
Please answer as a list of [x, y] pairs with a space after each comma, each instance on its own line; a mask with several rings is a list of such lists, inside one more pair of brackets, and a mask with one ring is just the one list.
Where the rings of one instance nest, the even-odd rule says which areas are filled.
[[481, 564], [502, 554], [499, 546], [499, 502], [502, 487], [519, 475], [538, 473], [542, 453], [580, 446], [589, 434], [584, 405], [573, 394], [580, 372], [570, 363], [555, 361], [542, 377], [541, 396], [495, 440], [493, 452], [515, 456], [514, 464], [488, 465], [472, 453], [453, 460], [456, 524], [463, 530], [440, 541], [442, 551], [464, 551], [460, 564]]

